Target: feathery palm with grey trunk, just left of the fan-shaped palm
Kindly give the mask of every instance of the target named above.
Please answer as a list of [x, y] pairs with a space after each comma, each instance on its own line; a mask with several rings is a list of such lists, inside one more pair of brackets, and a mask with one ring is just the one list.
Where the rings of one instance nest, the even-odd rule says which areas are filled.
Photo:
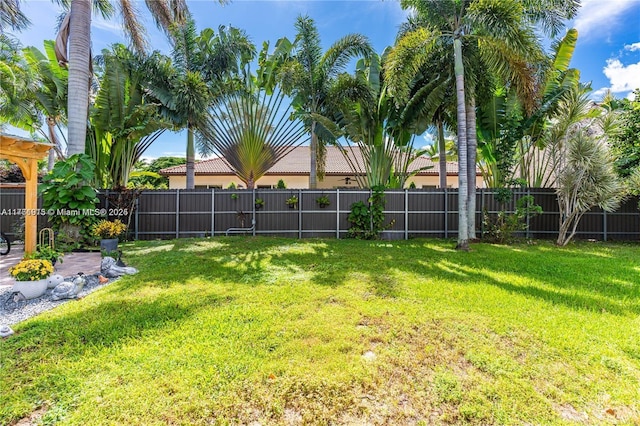
[[208, 126], [208, 110], [240, 85], [237, 75], [255, 56], [247, 35], [220, 26], [196, 35], [192, 20], [172, 30], [172, 60], [155, 53], [149, 58], [149, 89], [174, 128], [187, 129], [187, 188], [195, 186], [195, 135]]

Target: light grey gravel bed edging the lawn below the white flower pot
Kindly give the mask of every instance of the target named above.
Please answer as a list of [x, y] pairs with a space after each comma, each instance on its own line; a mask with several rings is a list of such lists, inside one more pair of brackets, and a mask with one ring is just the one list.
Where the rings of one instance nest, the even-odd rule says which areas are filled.
[[[111, 284], [117, 278], [110, 279], [109, 282], [100, 284], [98, 280], [99, 274], [86, 275], [86, 283], [82, 288], [78, 298], [84, 297], [87, 294]], [[72, 277], [65, 277], [65, 281], [72, 281]], [[35, 299], [24, 300], [20, 294], [16, 297], [15, 293], [11, 291], [11, 287], [0, 288], [0, 326], [13, 325], [20, 321], [24, 321], [28, 318], [38, 315], [41, 312], [45, 312], [60, 306], [63, 303], [70, 302], [76, 299], [62, 299], [51, 300], [51, 293], [53, 289], [47, 289], [47, 292]]]

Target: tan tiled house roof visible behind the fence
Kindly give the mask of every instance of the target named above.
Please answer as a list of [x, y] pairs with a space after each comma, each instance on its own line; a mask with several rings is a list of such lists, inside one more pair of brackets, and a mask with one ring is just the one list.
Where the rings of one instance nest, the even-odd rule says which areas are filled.
[[[358, 149], [357, 147], [347, 147], [345, 149], [347, 150], [347, 152], [350, 152], [350, 158], [353, 158], [359, 164], [362, 164], [362, 154], [360, 153], [360, 149]], [[299, 146], [293, 148], [293, 150], [289, 154], [287, 154], [280, 161], [274, 164], [273, 167], [271, 167], [271, 169], [269, 169], [269, 171], [267, 172], [267, 175], [308, 175], [310, 169], [309, 164], [309, 147]], [[334, 146], [327, 147], [327, 158], [325, 164], [326, 175], [353, 174], [353, 170], [351, 169], [347, 160], [345, 160], [344, 155], [338, 148]], [[427, 169], [418, 172], [418, 176], [438, 175], [438, 162], [434, 162], [431, 160], [431, 158], [426, 156], [420, 156], [413, 163], [411, 163], [411, 165], [409, 166], [409, 171], [414, 171], [422, 168]], [[187, 166], [182, 164], [179, 166], [168, 167], [166, 169], [160, 170], [159, 173], [164, 176], [186, 175]], [[231, 167], [229, 167], [222, 158], [212, 158], [209, 160], [198, 161], [195, 164], [195, 173], [199, 176], [235, 174], [233, 169], [231, 169]], [[447, 162], [447, 174], [458, 174], [457, 162]]]

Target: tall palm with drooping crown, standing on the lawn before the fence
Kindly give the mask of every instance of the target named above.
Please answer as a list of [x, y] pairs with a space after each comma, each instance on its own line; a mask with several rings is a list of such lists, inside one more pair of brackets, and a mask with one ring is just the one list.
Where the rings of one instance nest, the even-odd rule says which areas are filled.
[[476, 151], [475, 100], [473, 94], [466, 92], [465, 83], [471, 81], [472, 75], [465, 76], [463, 53], [477, 48], [483, 62], [505, 81], [517, 84], [518, 93], [532, 107], [535, 80], [527, 64], [532, 57], [540, 58], [532, 22], [542, 22], [543, 28], [555, 32], [562, 23], [560, 18], [572, 17], [579, 2], [560, 5], [553, 0], [401, 0], [401, 5], [412, 9], [421, 25], [400, 38], [398, 58], [390, 61], [390, 71], [399, 81], [410, 81], [439, 43], [453, 50], [459, 158], [458, 248], [468, 250], [470, 233], [475, 233], [475, 227], [469, 227], [475, 217], [475, 182], [469, 186], [470, 176], [475, 181], [475, 163], [468, 164]]

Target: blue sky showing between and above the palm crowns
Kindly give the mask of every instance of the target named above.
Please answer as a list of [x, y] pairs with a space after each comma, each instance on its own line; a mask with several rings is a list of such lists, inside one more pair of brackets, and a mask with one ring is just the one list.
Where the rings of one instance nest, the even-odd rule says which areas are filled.
[[[145, 11], [144, 2], [136, 2]], [[378, 52], [394, 43], [398, 26], [407, 13], [395, 0], [235, 0], [220, 6], [213, 0], [189, 1], [199, 29], [232, 25], [244, 29], [260, 49], [263, 41], [272, 46], [286, 36], [293, 39], [298, 15], [314, 19], [324, 47], [349, 33], [369, 37]], [[60, 13], [50, 0], [25, 0], [23, 10], [33, 25], [17, 34], [22, 44], [42, 49], [42, 41], [55, 38], [56, 17]], [[170, 46], [164, 35], [146, 20], [153, 49], [165, 53]], [[579, 31], [572, 66], [581, 71], [581, 80], [591, 82], [592, 97], [598, 99], [611, 89], [618, 98], [640, 87], [640, 0], [582, 0], [578, 17], [567, 23]], [[93, 51], [114, 42], [125, 42], [118, 19], [93, 22]], [[147, 151], [146, 157], [184, 156], [186, 137], [165, 133]]]

